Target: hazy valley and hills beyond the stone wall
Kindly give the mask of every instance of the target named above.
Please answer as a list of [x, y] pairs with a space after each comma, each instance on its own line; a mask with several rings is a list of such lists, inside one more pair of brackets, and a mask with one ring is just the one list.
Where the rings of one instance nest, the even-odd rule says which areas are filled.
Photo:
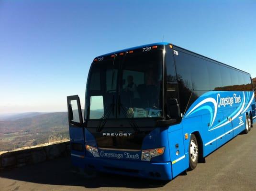
[[[17, 119], [18, 118], [18, 119]], [[0, 120], [0, 151], [69, 138], [67, 112], [33, 113]]]

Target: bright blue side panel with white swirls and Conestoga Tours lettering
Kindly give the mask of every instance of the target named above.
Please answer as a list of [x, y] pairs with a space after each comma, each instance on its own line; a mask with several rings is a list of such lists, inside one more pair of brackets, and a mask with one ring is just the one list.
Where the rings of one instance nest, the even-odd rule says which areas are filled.
[[[198, 128], [203, 141], [203, 156], [207, 156], [245, 129], [245, 115], [251, 111], [253, 98], [253, 92], [211, 91], [203, 94], [182, 119], [184, 133], [191, 134]], [[225, 105], [227, 99], [230, 99], [226, 102], [229, 105]]]

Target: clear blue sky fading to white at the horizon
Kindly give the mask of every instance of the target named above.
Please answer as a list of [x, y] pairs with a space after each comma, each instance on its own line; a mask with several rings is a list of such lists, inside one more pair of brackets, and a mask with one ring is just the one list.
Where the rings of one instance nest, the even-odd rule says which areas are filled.
[[[0, 0], [0, 113], [82, 105], [97, 55], [171, 42], [256, 77], [256, 1]], [[83, 107], [83, 106], [82, 106]]]

